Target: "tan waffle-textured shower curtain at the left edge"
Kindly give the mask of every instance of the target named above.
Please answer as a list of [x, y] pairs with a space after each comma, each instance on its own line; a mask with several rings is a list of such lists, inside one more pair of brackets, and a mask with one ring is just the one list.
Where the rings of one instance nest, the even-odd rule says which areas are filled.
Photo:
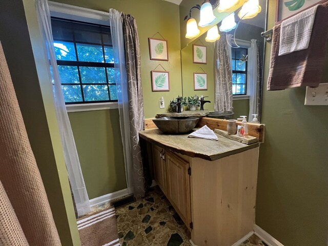
[[61, 245], [0, 42], [0, 245]]

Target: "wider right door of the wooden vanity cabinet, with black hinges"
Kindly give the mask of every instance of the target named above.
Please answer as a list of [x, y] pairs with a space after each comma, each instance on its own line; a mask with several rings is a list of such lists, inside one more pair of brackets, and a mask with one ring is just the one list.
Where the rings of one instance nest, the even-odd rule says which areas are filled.
[[191, 222], [189, 162], [171, 152], [166, 153], [166, 161], [168, 169], [168, 198], [189, 228]]

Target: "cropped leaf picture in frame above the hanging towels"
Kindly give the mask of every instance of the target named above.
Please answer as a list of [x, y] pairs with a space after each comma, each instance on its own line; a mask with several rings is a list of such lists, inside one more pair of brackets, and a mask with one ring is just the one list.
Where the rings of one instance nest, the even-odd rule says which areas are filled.
[[276, 0], [276, 25], [280, 24], [285, 19], [326, 1], [327, 0], [311, 0], [305, 1], [303, 4], [301, 4], [300, 1], [299, 4], [295, 3], [291, 6], [286, 6], [286, 3], [291, 2], [291, 0]]

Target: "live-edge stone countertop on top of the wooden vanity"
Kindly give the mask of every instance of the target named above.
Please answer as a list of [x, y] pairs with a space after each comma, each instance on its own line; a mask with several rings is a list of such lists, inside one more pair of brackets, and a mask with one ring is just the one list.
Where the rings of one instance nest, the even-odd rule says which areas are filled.
[[189, 138], [188, 135], [189, 134], [164, 134], [159, 129], [139, 132], [139, 136], [141, 138], [161, 148], [190, 157], [198, 157], [206, 160], [217, 160], [259, 146], [258, 142], [252, 145], [245, 145], [241, 144], [241, 142], [236, 142], [218, 134], [216, 134], [218, 137], [217, 141], [201, 138]]

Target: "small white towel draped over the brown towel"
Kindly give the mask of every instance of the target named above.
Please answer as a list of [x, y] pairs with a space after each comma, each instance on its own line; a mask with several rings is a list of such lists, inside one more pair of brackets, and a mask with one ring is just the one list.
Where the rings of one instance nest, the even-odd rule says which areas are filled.
[[317, 7], [318, 5], [281, 23], [279, 56], [308, 49]]

